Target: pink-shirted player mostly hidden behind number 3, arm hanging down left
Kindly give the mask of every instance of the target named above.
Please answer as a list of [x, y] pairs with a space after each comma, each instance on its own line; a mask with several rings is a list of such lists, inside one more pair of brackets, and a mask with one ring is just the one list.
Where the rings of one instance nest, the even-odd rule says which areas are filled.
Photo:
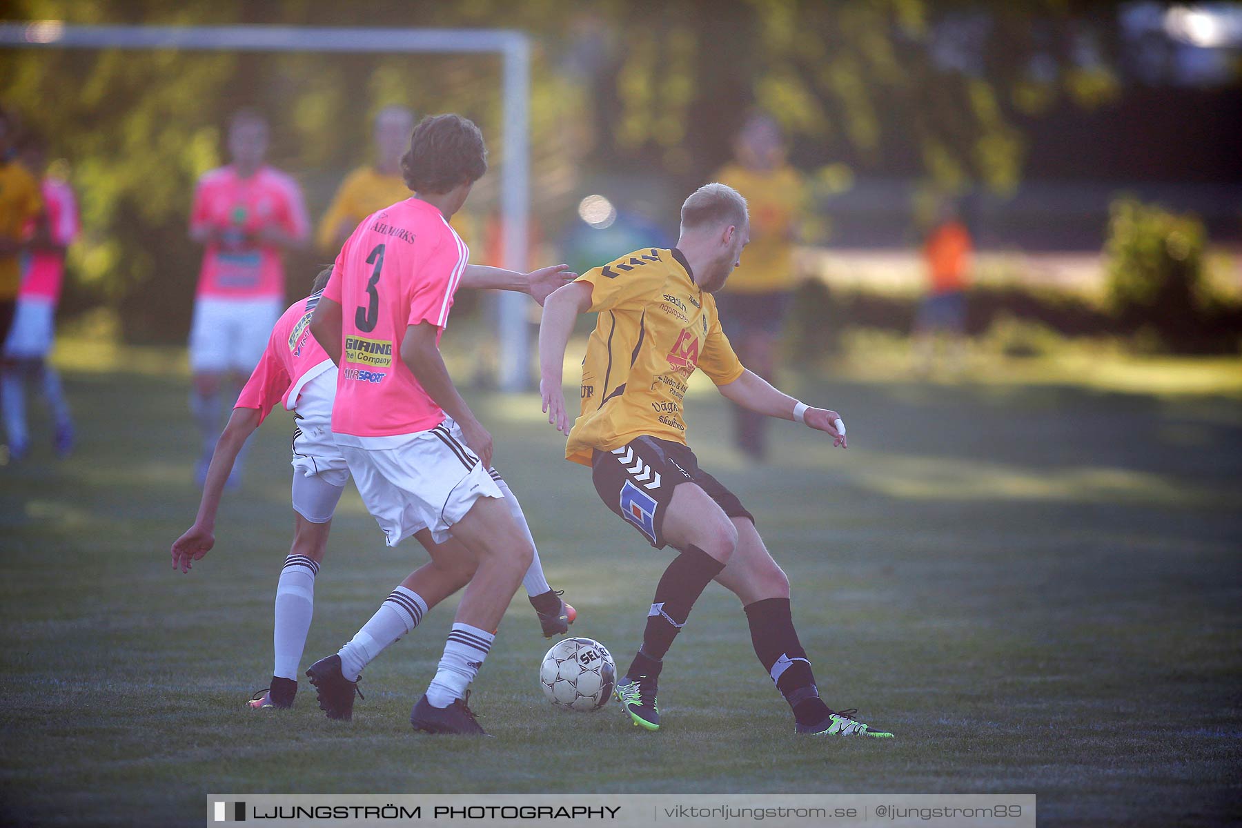
[[[284, 559], [276, 587], [272, 680], [261, 695], [256, 694], [248, 703], [255, 710], [293, 705], [298, 689], [298, 663], [306, 648], [314, 610], [314, 582], [327, 551], [337, 502], [349, 478], [345, 459], [332, 438], [337, 366], [309, 331], [310, 314], [330, 272], [324, 269], [319, 273], [310, 295], [293, 303], [277, 320], [263, 356], [242, 389], [229, 425], [216, 443], [194, 525], [171, 549], [173, 569], [180, 567], [183, 572], [189, 572], [193, 561], [200, 560], [215, 546], [220, 498], [237, 453], [277, 403], [293, 411], [297, 420], [293, 431], [293, 545]], [[565, 277], [544, 272], [534, 274], [534, 279], [527, 279], [527, 283], [529, 292], [542, 300], [560, 287]], [[498, 475], [496, 480], [505, 498], [512, 499], [519, 523], [529, 535], [525, 518], [508, 485]], [[342, 648], [350, 669], [361, 670], [381, 649], [412, 631], [430, 607], [463, 587], [474, 572], [474, 559], [452, 539], [442, 545], [441, 552], [436, 549], [437, 544], [430, 530], [420, 529], [415, 538], [428, 550], [435, 549], [436, 554], [430, 564], [411, 572], [384, 601], [364, 632]], [[542, 583], [542, 587], [535, 587], [539, 591], [532, 593], [537, 612], [540, 601], [551, 600], [556, 607], [564, 606], [569, 613], [569, 617], [539, 613], [544, 634], [566, 632], [574, 610], [569, 605], [561, 605], [559, 593], [551, 592], [544, 580], [538, 552], [527, 575], [527, 581], [534, 580]], [[356, 673], [354, 677], [356, 678]]]

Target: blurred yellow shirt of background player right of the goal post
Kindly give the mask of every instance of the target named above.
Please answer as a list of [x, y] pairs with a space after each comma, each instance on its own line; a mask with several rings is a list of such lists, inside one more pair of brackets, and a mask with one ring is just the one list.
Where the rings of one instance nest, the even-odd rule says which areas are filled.
[[750, 210], [750, 243], [741, 264], [729, 276], [729, 293], [791, 290], [794, 272], [794, 223], [804, 211], [806, 187], [792, 166], [750, 170], [729, 164], [715, 175], [745, 197]]

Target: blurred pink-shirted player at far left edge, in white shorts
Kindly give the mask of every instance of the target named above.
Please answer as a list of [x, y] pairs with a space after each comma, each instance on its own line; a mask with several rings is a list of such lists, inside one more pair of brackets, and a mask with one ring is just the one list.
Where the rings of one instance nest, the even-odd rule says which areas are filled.
[[55, 334], [56, 305], [61, 299], [65, 274], [65, 250], [78, 236], [78, 210], [68, 182], [46, 175], [47, 146], [43, 139], [27, 134], [22, 140], [21, 163], [35, 178], [42, 178], [43, 215], [31, 223], [30, 247], [22, 264], [21, 287], [12, 328], [2, 343], [0, 402], [9, 434], [10, 458], [25, 457], [30, 448], [26, 427], [26, 382], [35, 381], [43, 392], [55, 426], [56, 452], [61, 457], [73, 447], [73, 421], [61, 389], [61, 377], [47, 364]]

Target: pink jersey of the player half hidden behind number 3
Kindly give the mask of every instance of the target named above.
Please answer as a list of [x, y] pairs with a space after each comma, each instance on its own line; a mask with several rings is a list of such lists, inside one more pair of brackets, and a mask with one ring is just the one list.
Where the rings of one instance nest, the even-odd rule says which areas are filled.
[[[284, 408], [293, 411], [298, 407], [298, 397], [303, 386], [324, 371], [333, 367], [327, 351], [310, 335], [310, 314], [319, 304], [322, 293], [313, 293], [306, 299], [299, 299], [289, 305], [289, 309], [281, 314], [272, 328], [272, 335], [267, 340], [267, 349], [255, 366], [255, 371], [242, 387], [237, 397], [235, 408], [258, 408], [258, 421], [271, 413], [277, 402], [283, 402]], [[322, 407], [322, 417], [328, 418], [332, 411], [332, 401], [315, 401], [315, 408]], [[298, 413], [319, 413], [303, 412]]]

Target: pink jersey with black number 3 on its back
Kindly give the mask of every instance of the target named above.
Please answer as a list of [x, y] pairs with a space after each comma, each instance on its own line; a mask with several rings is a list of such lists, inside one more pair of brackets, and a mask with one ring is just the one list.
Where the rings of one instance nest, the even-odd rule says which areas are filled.
[[323, 295], [342, 305], [343, 341], [332, 430], [355, 437], [410, 434], [445, 412], [401, 361], [406, 328], [443, 333], [469, 250], [443, 215], [406, 199], [358, 225]]

